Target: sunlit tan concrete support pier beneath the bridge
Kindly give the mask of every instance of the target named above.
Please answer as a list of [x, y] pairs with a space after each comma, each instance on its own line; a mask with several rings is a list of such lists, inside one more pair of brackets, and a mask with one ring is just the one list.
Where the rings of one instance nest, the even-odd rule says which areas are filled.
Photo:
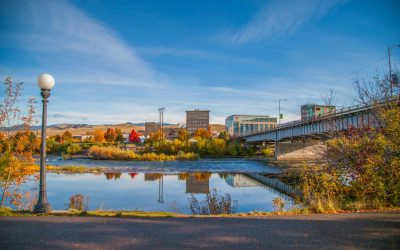
[[275, 159], [278, 161], [317, 161], [326, 156], [326, 144], [322, 141], [275, 144]]

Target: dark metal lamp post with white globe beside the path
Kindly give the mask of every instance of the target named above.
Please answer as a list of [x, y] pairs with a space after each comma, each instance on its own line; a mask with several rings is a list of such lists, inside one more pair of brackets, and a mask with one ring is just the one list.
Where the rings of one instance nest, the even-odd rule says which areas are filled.
[[33, 208], [35, 213], [48, 213], [51, 210], [47, 202], [46, 194], [46, 122], [47, 122], [47, 98], [50, 96], [50, 90], [54, 87], [54, 78], [49, 74], [42, 74], [38, 78], [38, 85], [43, 97], [42, 112], [42, 144], [40, 146], [40, 182], [38, 202]]

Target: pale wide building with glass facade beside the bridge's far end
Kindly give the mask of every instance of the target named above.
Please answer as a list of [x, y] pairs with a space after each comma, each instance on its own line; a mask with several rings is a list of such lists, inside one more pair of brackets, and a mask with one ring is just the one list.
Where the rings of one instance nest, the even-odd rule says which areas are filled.
[[231, 115], [225, 119], [225, 129], [231, 136], [273, 129], [277, 118], [268, 115]]

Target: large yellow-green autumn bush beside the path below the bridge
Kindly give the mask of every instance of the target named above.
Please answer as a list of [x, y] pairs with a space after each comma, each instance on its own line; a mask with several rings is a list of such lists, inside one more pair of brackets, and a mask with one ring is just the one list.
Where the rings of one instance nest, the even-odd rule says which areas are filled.
[[384, 128], [350, 129], [327, 142], [327, 164], [297, 174], [299, 200], [315, 212], [400, 206], [400, 107]]

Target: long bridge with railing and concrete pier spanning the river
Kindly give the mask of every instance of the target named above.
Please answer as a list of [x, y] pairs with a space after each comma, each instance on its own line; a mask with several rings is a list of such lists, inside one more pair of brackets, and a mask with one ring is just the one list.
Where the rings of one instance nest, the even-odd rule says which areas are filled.
[[[346, 107], [320, 117], [279, 124], [274, 129], [246, 134], [237, 139], [246, 143], [275, 143], [277, 160], [319, 160], [324, 157], [326, 152], [326, 145], [321, 140], [326, 135], [331, 132], [344, 131], [350, 127], [377, 127], [379, 124], [373, 114], [376, 105], [384, 105], [398, 100], [399, 97], [394, 97], [391, 101], [385, 100], [374, 104]], [[310, 141], [310, 139], [315, 140]]]

